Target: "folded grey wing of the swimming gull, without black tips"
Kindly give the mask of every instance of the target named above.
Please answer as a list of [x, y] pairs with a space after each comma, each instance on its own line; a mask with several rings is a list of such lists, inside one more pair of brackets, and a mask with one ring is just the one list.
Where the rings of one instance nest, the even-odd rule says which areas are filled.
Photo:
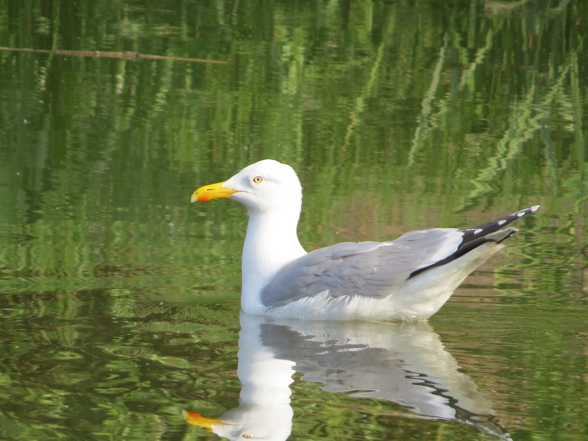
[[454, 228], [411, 231], [392, 242], [343, 242], [314, 250], [280, 269], [263, 288], [264, 306], [275, 308], [325, 290], [333, 298], [383, 298], [416, 270], [454, 255], [463, 232]]

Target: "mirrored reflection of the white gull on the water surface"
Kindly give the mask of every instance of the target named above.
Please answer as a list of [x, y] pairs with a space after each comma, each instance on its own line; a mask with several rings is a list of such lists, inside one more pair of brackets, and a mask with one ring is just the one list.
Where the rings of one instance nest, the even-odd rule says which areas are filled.
[[228, 439], [288, 439], [289, 386], [298, 371], [328, 392], [388, 400], [426, 418], [458, 420], [510, 439], [494, 422], [490, 402], [459, 372], [427, 323], [269, 320], [242, 314], [241, 326], [239, 407], [218, 419], [184, 411], [188, 423]]

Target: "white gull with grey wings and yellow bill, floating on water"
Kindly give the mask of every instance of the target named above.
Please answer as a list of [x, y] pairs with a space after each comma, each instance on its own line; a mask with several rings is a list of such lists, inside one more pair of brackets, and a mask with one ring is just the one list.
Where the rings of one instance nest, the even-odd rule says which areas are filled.
[[248, 209], [241, 308], [302, 319], [424, 320], [539, 205], [473, 228], [432, 228], [390, 242], [343, 242], [307, 253], [296, 227], [302, 186], [286, 164], [264, 159], [227, 181], [205, 185], [192, 202], [230, 198]]

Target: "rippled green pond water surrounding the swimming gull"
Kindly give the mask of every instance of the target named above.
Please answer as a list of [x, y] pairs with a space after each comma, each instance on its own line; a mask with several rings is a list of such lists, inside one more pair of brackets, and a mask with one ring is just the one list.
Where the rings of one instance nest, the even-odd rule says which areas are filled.
[[[218, 439], [182, 410], [291, 440], [588, 438], [587, 16], [0, 0], [0, 46], [49, 50], [0, 50], [0, 438]], [[299, 173], [306, 249], [542, 208], [429, 325], [248, 324], [245, 209], [189, 197], [263, 158]], [[239, 400], [259, 353], [290, 420]]]

